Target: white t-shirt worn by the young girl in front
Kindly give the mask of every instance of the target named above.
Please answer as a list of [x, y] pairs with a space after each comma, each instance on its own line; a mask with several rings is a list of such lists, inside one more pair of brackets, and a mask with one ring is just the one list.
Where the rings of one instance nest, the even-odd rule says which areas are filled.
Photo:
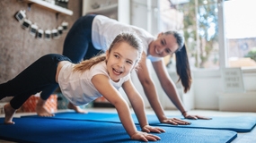
[[[66, 63], [58, 74], [58, 84], [64, 97], [74, 105], [86, 105], [102, 95], [94, 87], [92, 78], [94, 75], [103, 74], [108, 77], [105, 61], [94, 65], [90, 70], [80, 72], [73, 71], [74, 63]], [[119, 89], [122, 84], [130, 78], [130, 74], [114, 82], [110, 80], [113, 87]]]

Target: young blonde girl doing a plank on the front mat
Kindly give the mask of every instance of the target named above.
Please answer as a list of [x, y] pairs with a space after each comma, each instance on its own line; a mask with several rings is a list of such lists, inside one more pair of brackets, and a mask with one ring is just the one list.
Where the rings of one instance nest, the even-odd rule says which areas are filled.
[[[148, 125], [144, 102], [130, 80], [142, 54], [141, 41], [130, 33], [119, 34], [110, 45], [106, 55], [95, 56], [81, 63], [71, 63], [64, 55], [44, 55], [13, 80], [0, 85], [0, 99], [13, 96], [4, 105], [4, 123], [13, 124], [13, 114], [30, 97], [52, 85], [59, 85], [63, 95], [73, 105], [84, 105], [97, 97], [105, 97], [115, 105], [125, 130], [131, 139], [158, 140], [158, 136], [146, 132], [163, 132]], [[137, 114], [143, 131], [138, 131], [129, 112], [128, 104], [118, 92], [122, 87]], [[40, 98], [45, 104], [48, 97]]]

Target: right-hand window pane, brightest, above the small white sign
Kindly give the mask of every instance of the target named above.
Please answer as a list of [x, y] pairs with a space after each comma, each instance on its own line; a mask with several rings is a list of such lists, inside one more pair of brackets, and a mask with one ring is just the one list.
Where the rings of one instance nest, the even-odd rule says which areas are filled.
[[225, 1], [225, 38], [230, 67], [256, 67], [255, 5], [255, 0]]

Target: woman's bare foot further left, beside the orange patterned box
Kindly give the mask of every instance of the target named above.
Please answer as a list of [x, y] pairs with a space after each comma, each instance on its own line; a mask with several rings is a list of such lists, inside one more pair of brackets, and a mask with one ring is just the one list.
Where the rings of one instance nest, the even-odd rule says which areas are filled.
[[46, 103], [46, 100], [39, 99], [37, 106], [36, 106], [36, 112], [39, 116], [42, 117], [52, 117], [54, 114], [49, 113], [49, 111], [44, 107]]

